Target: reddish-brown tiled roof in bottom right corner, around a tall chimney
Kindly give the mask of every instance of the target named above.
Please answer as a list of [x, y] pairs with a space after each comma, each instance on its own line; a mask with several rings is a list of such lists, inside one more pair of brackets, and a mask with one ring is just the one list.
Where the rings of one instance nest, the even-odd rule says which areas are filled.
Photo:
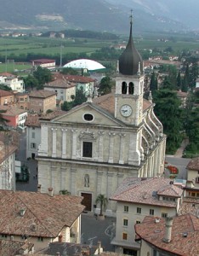
[[[181, 256], [199, 255], [199, 218], [191, 214], [173, 218], [171, 241], [163, 241], [165, 234], [165, 219], [159, 223], [155, 218], [145, 217], [143, 223], [135, 225], [136, 234], [151, 246]], [[185, 237], [184, 234], [187, 234]]]

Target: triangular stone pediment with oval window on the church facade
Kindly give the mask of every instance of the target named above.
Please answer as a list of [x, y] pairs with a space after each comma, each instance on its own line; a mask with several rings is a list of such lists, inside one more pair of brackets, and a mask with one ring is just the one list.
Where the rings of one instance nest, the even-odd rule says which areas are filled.
[[[85, 114], [93, 116], [92, 120], [86, 120]], [[108, 126], [123, 126], [121, 121], [114, 118], [111, 113], [105, 112], [104, 109], [100, 109], [90, 103], [73, 108], [64, 115], [53, 119], [53, 123], [81, 123], [91, 125], [108, 125]]]

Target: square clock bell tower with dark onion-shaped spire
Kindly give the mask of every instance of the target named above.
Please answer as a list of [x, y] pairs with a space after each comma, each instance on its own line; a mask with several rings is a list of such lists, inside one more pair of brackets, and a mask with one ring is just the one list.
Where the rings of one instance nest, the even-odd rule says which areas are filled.
[[142, 122], [145, 75], [142, 58], [134, 47], [132, 26], [131, 14], [128, 44], [117, 61], [115, 117], [138, 126]]

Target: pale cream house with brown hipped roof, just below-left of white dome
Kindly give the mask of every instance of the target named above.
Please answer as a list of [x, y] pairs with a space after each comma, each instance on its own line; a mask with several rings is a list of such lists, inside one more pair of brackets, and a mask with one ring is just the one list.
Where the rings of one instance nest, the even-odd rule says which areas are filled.
[[64, 75], [54, 75], [54, 80], [44, 84], [43, 88], [44, 90], [54, 91], [56, 99], [62, 102], [71, 102], [71, 96], [76, 96], [76, 84], [65, 79]]

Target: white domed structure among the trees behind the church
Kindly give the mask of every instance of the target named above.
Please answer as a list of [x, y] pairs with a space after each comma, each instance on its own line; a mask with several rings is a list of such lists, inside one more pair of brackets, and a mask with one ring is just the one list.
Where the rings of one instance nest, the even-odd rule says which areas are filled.
[[105, 68], [99, 62], [88, 60], [88, 59], [80, 59], [80, 60], [76, 60], [76, 61], [71, 61], [71, 62], [68, 62], [67, 64], [65, 64], [64, 67], [83, 68], [83, 69], [88, 69], [90, 71]]

